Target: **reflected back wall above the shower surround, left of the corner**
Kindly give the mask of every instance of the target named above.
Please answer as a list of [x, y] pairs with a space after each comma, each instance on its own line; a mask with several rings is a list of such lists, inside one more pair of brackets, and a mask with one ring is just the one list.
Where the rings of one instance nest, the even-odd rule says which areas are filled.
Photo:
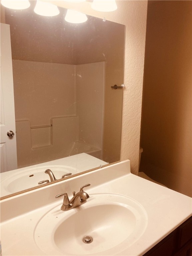
[[5, 12], [2, 22], [10, 24], [12, 59], [77, 64], [77, 29], [63, 22], [66, 10], [60, 10], [58, 16], [45, 17], [33, 12], [36, 1], [30, 4], [23, 12], [0, 6]]

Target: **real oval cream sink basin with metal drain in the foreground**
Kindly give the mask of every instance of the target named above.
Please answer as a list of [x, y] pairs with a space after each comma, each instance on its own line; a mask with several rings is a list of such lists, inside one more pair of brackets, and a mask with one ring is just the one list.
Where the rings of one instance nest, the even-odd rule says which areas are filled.
[[[34, 239], [47, 255], [114, 255], [135, 243], [147, 227], [137, 201], [118, 194], [92, 194], [69, 211], [60, 204], [38, 222]], [[91, 242], [83, 242], [90, 236]]]

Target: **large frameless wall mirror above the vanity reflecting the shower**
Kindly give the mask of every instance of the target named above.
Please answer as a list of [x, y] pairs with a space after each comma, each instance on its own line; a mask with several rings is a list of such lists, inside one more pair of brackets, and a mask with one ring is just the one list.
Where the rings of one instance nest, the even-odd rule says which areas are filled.
[[45, 17], [30, 3], [5, 8], [1, 20], [10, 25], [19, 168], [1, 173], [7, 194], [26, 189], [24, 176], [37, 186], [38, 170], [38, 181], [50, 180], [46, 168], [59, 180], [120, 160], [123, 89], [111, 86], [123, 84], [125, 26], [88, 15], [68, 23], [66, 9]]

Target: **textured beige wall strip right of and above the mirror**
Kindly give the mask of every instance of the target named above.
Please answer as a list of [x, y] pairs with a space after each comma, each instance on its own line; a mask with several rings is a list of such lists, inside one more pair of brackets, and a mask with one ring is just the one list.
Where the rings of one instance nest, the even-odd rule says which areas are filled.
[[[88, 15], [105, 17], [126, 26], [125, 32], [125, 72], [123, 88], [123, 114], [121, 136], [121, 160], [130, 159], [131, 172], [138, 173], [139, 141], [141, 126], [141, 106], [143, 71], [145, 56], [145, 34], [147, 20], [147, 1], [119, 0], [115, 12], [103, 13], [91, 9], [91, 4], [83, 2], [72, 4], [51, 1], [58, 6], [78, 9]], [[118, 38], [114, 35], [114, 40]]]

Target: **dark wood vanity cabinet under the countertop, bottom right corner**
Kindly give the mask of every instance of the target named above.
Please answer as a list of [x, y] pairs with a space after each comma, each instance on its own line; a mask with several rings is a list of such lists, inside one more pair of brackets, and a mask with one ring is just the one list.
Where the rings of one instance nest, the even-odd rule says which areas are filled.
[[192, 217], [143, 256], [192, 256]]

